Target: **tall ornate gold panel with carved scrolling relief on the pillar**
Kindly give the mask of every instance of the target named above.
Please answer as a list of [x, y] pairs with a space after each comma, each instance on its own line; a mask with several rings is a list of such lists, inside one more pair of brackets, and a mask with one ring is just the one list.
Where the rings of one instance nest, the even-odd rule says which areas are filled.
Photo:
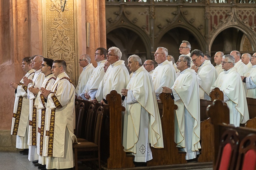
[[[64, 3], [64, 0], [62, 0]], [[62, 12], [61, 0], [42, 1], [43, 55], [67, 63], [66, 73], [75, 81], [77, 51], [75, 0], [67, 0]]]

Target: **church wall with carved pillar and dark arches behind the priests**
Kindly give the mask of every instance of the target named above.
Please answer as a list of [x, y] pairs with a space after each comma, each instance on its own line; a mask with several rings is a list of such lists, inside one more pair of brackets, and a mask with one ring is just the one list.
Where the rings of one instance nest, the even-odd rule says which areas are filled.
[[25, 74], [21, 61], [26, 56], [65, 60], [76, 85], [79, 56], [89, 54], [96, 66], [98, 47], [118, 47], [126, 65], [131, 54], [142, 62], [154, 60], [157, 47], [166, 47], [177, 61], [182, 40], [210, 54], [213, 64], [217, 51], [253, 54], [256, 49], [255, 0], [67, 0], [63, 10], [64, 1], [0, 2], [0, 150], [16, 150], [9, 82]]

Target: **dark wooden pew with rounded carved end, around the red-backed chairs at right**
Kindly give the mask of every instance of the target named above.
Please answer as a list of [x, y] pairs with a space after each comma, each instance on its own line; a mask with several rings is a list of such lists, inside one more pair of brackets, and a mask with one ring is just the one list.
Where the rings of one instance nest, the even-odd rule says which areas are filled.
[[[218, 169], [219, 168], [219, 160], [221, 156], [221, 137], [224, 133], [227, 133], [227, 131], [236, 132], [236, 137], [238, 138], [237, 143], [238, 146], [240, 145], [240, 142], [243, 141], [243, 139], [246, 136], [250, 135], [256, 135], [256, 130], [254, 129], [248, 129], [244, 127], [238, 127], [235, 128], [233, 125], [229, 125], [229, 109], [227, 106], [223, 104], [222, 101], [214, 101], [211, 106], [207, 109], [207, 114], [211, 118], [211, 123], [214, 126], [214, 159], [213, 159], [213, 168]], [[247, 137], [246, 137], [247, 138]], [[242, 147], [242, 146], [240, 146]], [[238, 158], [241, 158], [241, 155], [239, 155], [240, 151], [233, 152], [234, 157], [231, 159], [230, 168], [231, 169], [240, 169], [241, 168], [241, 161]]]

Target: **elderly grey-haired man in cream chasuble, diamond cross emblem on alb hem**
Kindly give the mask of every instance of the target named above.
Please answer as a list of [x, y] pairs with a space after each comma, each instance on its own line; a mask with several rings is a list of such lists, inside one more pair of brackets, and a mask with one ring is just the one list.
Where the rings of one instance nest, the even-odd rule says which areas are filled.
[[123, 146], [125, 152], [134, 155], [135, 165], [152, 159], [151, 146], [163, 148], [161, 120], [150, 74], [142, 66], [141, 58], [131, 55], [128, 67], [133, 72], [126, 89], [123, 105], [124, 129]]

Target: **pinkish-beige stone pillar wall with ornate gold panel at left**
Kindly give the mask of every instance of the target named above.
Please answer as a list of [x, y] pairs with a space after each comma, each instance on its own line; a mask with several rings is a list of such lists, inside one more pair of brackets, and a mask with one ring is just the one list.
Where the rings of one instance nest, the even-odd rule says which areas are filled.
[[[15, 150], [16, 136], [10, 135], [14, 89], [9, 82], [19, 82], [25, 75], [22, 59], [35, 54], [63, 59], [77, 84], [82, 71], [79, 56], [89, 54], [96, 65], [95, 49], [106, 48], [105, 1], [68, 0], [64, 12], [60, 0], [4, 0], [0, 8], [0, 150]], [[86, 22], [91, 26], [89, 47]]]

